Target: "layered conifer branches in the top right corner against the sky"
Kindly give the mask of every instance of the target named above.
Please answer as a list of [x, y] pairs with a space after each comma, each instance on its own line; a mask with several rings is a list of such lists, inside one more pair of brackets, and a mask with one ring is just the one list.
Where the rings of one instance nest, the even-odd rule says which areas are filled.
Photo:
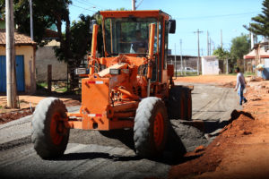
[[262, 13], [251, 18], [251, 20], [255, 22], [250, 23], [249, 27], [246, 25], [244, 25], [244, 27], [256, 35], [262, 35], [265, 36], [265, 38], [269, 38], [269, 0], [264, 0], [263, 6]]

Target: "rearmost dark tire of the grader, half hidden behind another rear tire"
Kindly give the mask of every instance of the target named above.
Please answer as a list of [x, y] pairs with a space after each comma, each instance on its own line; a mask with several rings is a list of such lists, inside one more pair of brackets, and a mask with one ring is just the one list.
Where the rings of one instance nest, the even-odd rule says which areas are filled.
[[185, 101], [184, 101], [184, 115], [183, 119], [187, 121], [192, 120], [192, 94], [191, 90], [188, 88], [182, 88], [183, 94], [185, 96]]

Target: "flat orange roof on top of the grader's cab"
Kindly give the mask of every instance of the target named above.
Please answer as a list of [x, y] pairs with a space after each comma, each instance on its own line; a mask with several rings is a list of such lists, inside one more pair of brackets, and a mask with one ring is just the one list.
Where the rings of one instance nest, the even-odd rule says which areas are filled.
[[169, 20], [169, 14], [162, 12], [161, 10], [150, 11], [100, 11], [103, 18], [120, 18], [120, 17], [164, 17], [165, 20]]

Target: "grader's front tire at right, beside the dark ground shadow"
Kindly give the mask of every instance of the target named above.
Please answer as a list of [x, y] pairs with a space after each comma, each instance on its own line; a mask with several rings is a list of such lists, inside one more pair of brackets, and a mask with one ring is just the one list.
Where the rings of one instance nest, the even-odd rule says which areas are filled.
[[161, 155], [168, 136], [167, 109], [161, 98], [143, 98], [134, 117], [134, 149], [142, 158]]

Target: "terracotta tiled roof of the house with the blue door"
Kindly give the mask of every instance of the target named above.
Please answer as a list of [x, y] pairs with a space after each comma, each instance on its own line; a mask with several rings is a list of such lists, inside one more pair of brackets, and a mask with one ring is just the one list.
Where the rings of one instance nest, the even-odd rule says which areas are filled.
[[[16, 46], [27, 46], [27, 45], [36, 45], [37, 43], [30, 39], [29, 36], [26, 36], [24, 34], [15, 32], [14, 33], [15, 38], [15, 45]], [[0, 30], [0, 46], [5, 45], [5, 30]]]

